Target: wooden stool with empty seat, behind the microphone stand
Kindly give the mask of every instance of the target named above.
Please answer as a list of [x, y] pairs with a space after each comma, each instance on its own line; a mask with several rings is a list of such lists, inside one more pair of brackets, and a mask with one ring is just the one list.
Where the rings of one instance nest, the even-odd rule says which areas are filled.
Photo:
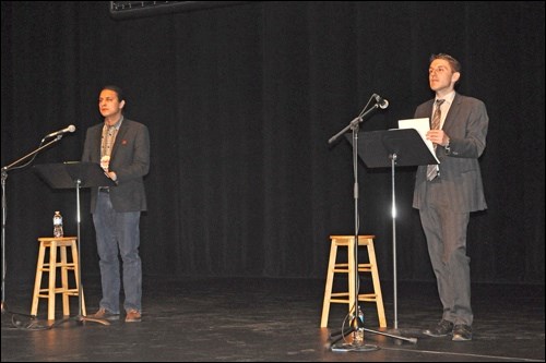
[[[368, 247], [368, 258], [369, 264], [358, 264], [359, 273], [371, 273], [371, 279], [373, 281], [373, 292], [372, 293], [358, 293], [358, 301], [375, 302], [377, 305], [377, 313], [379, 317], [379, 326], [381, 328], [387, 327], [387, 319], [384, 317], [383, 298], [381, 294], [381, 285], [379, 283], [379, 273], [377, 268], [376, 251], [373, 250], [373, 238], [375, 235], [358, 235], [358, 245]], [[320, 327], [325, 328], [328, 326], [328, 317], [330, 314], [331, 303], [343, 303], [348, 304], [349, 314], [354, 312], [355, 306], [355, 249], [354, 235], [330, 235], [332, 244], [330, 246], [330, 262], [328, 264], [327, 274], [327, 287], [324, 290], [324, 303], [322, 305], [322, 318], [320, 320]], [[347, 247], [347, 263], [336, 263], [337, 247]], [[332, 292], [332, 286], [334, 281], [334, 274], [342, 273], [348, 274], [348, 291], [347, 292]]]

